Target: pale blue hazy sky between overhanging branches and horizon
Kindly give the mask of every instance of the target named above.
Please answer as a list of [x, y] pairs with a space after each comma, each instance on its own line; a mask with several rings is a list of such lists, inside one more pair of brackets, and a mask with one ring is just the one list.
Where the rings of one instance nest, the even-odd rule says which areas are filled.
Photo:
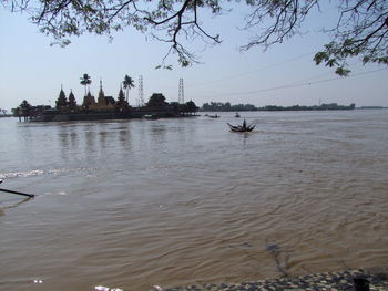
[[[105, 95], [118, 97], [121, 82], [130, 75], [136, 87], [130, 91], [130, 104], [139, 102], [139, 79], [143, 79], [144, 101], [162, 93], [167, 102], [178, 100], [180, 79], [184, 80], [184, 100], [202, 106], [205, 102], [231, 102], [256, 106], [316, 105], [338, 103], [356, 106], [388, 106], [387, 66], [361, 65], [350, 60], [350, 77], [338, 77], [333, 69], [317, 66], [315, 52], [329, 42], [318, 30], [335, 20], [330, 10], [313, 14], [303, 35], [264, 51], [255, 46], [241, 52], [238, 46], [252, 37], [242, 27], [243, 12], [235, 8], [222, 17], [205, 17], [210, 33], [221, 34], [222, 44], [204, 48], [192, 44], [201, 63], [180, 67], [175, 55], [167, 59], [173, 70], [155, 70], [169, 46], [132, 29], [114, 34], [84, 34], [67, 48], [51, 46], [51, 37], [39, 32], [25, 14], [10, 13], [0, 7], [0, 108], [10, 111], [23, 100], [31, 105], [54, 105], [61, 86], [72, 91], [79, 104], [84, 87], [80, 77], [92, 79], [91, 93], [98, 96], [100, 80]], [[308, 29], [306, 29], [308, 28]]]

